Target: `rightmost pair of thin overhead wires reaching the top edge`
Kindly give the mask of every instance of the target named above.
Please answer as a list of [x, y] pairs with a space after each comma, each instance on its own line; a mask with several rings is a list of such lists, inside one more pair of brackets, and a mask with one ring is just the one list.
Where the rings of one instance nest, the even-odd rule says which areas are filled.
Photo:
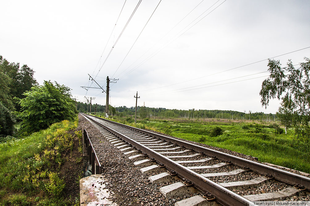
[[[224, 0], [224, 2], [226, 2], [227, 0]], [[217, 1], [217, 2], [219, 2], [219, 0]], [[215, 2], [212, 6], [214, 6], [217, 2]], [[217, 9], [219, 6], [221, 6], [224, 2], [222, 2], [222, 3], [220, 3], [218, 6], [216, 6], [212, 11], [214, 11], [215, 9]], [[208, 11], [212, 6], [210, 6], [206, 11]], [[206, 12], [205, 11], [205, 12]], [[123, 75], [122, 77], [120, 77], [119, 79], [121, 79], [121, 78], [124, 78], [126, 75], [128, 75], [128, 74], [130, 74], [131, 72], [133, 72], [135, 69], [137, 69], [137, 68], [139, 68], [141, 65], [143, 65], [145, 62], [147, 62], [148, 60], [150, 60], [151, 58], [153, 58], [156, 54], [158, 54], [159, 52], [161, 52], [164, 48], [166, 48], [168, 45], [170, 45], [172, 42], [174, 42], [176, 39], [178, 39], [180, 36], [182, 36], [185, 32], [187, 32], [189, 29], [191, 29], [193, 26], [195, 26], [198, 22], [200, 22], [202, 19], [204, 19], [206, 16], [208, 16], [212, 11], [210, 11], [208, 14], [206, 14], [204, 17], [202, 17], [200, 20], [198, 20], [195, 24], [193, 24], [191, 27], [189, 27], [186, 31], [184, 31], [182, 34], [180, 34], [178, 37], [176, 37], [174, 40], [172, 40], [175, 36], [177, 36], [177, 35], [175, 35], [174, 37], [172, 37], [169, 41], [170, 41], [170, 43], [168, 43], [167, 42], [167, 44], [164, 46], [164, 47], [162, 47], [162, 48], [160, 48], [160, 50], [158, 51], [158, 49], [154, 52], [154, 53], [152, 53], [150, 56], [148, 56], [146, 59], [144, 59], [144, 61], [142, 61], [142, 62], [140, 62], [137, 66], [135, 66], [133, 69], [131, 69], [130, 71], [128, 71], [125, 75]], [[202, 14], [204, 14], [205, 12], [203, 12]], [[201, 15], [202, 15], [201, 14]], [[200, 15], [200, 16], [201, 16]], [[200, 16], [198, 16], [196, 19], [198, 19]], [[194, 19], [191, 23], [189, 23], [188, 24], [188, 26], [190, 25], [190, 24], [192, 24], [196, 19]], [[186, 27], [188, 27], [188, 26], [186, 26]], [[185, 27], [185, 28], [186, 28]], [[184, 28], [184, 29], [185, 29]], [[183, 30], [184, 30], [183, 29]], [[183, 31], [183, 30], [181, 30], [181, 32]], [[172, 40], [172, 41], [171, 41]], [[158, 52], [157, 52], [158, 51]]]

